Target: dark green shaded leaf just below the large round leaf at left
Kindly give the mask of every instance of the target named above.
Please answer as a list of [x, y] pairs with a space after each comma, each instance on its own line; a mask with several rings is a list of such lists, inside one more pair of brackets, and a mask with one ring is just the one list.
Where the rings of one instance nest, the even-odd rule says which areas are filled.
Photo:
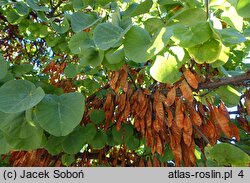
[[79, 126], [73, 132], [65, 137], [62, 141], [63, 151], [68, 154], [76, 154], [80, 152], [84, 144], [86, 144], [86, 128]]

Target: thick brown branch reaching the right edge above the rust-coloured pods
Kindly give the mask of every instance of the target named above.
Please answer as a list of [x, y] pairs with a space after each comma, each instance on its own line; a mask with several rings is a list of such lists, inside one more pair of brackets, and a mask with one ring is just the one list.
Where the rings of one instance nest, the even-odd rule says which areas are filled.
[[216, 81], [201, 83], [199, 85], [199, 89], [215, 89], [224, 85], [234, 85], [234, 86], [244, 85], [244, 82], [247, 84], [247, 81], [249, 80], [250, 80], [250, 70], [238, 76], [221, 78]]

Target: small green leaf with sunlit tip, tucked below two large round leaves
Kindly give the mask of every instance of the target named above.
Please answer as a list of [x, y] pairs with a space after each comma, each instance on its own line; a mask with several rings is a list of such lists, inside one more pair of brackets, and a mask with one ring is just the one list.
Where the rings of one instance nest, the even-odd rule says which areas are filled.
[[119, 48], [111, 49], [105, 54], [105, 58], [110, 64], [118, 64], [125, 60], [123, 45]]

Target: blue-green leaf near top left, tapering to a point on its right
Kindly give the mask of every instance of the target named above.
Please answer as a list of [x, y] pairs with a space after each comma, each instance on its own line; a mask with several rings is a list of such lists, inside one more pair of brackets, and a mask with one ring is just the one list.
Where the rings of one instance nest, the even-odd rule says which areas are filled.
[[85, 30], [93, 26], [98, 21], [99, 19], [94, 17], [92, 14], [83, 12], [75, 12], [71, 16], [71, 26], [74, 32]]

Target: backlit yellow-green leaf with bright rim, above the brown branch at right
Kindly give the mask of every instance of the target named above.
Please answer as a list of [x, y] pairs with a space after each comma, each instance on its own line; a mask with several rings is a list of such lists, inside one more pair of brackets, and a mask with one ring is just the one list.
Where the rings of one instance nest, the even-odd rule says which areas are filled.
[[202, 63], [213, 63], [215, 62], [221, 53], [222, 44], [220, 41], [210, 39], [204, 44], [199, 44], [188, 48], [188, 52], [194, 57], [195, 62], [198, 64]]

